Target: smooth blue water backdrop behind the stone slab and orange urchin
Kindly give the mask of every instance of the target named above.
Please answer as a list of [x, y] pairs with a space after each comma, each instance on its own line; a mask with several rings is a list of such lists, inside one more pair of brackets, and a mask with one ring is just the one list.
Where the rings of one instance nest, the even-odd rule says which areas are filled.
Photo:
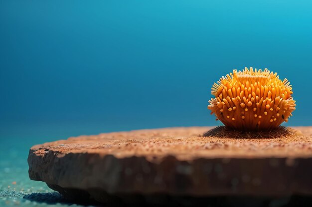
[[312, 125], [310, 2], [0, 0], [0, 143], [219, 125], [211, 86], [245, 66], [287, 77], [287, 125]]

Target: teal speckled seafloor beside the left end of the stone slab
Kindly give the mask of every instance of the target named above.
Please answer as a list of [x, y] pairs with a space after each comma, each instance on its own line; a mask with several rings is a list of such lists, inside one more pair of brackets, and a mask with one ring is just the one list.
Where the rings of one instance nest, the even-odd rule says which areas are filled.
[[0, 207], [85, 207], [29, 179], [28, 143], [14, 146], [12, 140], [0, 140], [0, 145]]

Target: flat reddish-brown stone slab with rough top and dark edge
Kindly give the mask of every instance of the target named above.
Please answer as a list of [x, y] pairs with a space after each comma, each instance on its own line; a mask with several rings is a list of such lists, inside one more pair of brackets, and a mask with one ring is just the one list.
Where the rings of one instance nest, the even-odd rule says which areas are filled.
[[312, 195], [312, 127], [283, 138], [202, 137], [208, 127], [80, 136], [31, 147], [29, 177], [65, 196]]

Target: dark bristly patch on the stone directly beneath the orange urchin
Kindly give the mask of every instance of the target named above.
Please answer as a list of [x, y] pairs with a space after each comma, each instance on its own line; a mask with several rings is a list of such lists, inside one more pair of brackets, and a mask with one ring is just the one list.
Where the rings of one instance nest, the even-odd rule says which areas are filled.
[[268, 131], [239, 131], [225, 126], [215, 127], [205, 132], [202, 137], [216, 138], [285, 138], [297, 135], [299, 132], [289, 127], [279, 126]]

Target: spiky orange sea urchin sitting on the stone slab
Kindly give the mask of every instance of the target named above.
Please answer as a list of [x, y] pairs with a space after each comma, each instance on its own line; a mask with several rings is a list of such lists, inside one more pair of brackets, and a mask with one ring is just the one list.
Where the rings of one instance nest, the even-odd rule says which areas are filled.
[[235, 130], [259, 131], [277, 128], [296, 109], [292, 85], [268, 69], [243, 71], [222, 76], [212, 86], [208, 109], [225, 126]]

